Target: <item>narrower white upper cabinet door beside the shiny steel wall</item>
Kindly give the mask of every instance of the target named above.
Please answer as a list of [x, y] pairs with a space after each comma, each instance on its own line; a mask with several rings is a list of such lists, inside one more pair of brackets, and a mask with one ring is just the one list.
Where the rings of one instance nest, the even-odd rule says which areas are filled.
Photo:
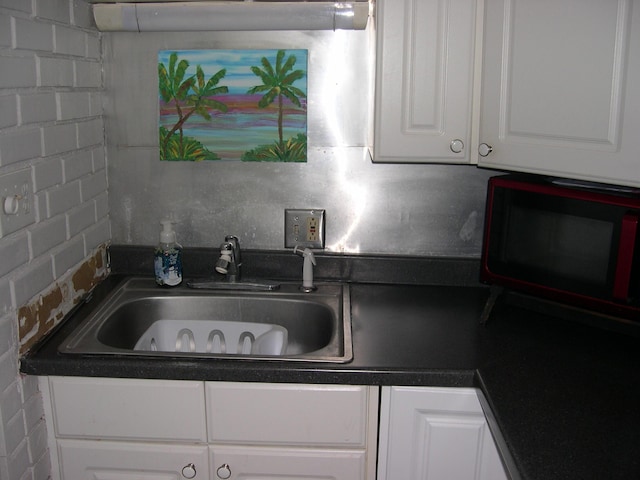
[[378, 0], [373, 159], [468, 163], [476, 0]]

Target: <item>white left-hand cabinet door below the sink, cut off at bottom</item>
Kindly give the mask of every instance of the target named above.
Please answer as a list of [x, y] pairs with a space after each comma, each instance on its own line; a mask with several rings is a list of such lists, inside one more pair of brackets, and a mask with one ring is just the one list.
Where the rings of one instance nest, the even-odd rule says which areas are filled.
[[208, 480], [206, 445], [58, 440], [61, 480]]

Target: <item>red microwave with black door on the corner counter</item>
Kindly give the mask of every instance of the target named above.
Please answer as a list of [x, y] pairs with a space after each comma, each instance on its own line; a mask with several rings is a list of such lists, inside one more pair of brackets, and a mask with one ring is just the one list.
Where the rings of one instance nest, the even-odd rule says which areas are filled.
[[640, 321], [640, 190], [489, 179], [481, 280]]

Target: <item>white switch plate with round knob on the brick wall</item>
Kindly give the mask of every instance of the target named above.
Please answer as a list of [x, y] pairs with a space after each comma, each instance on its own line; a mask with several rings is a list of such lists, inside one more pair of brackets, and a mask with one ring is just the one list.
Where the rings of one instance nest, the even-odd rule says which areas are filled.
[[31, 170], [0, 176], [0, 238], [35, 222]]

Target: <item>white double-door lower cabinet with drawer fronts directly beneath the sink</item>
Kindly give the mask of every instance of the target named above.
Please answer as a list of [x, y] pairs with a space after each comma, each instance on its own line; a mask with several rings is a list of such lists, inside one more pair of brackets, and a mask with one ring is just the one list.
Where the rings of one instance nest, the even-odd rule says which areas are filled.
[[378, 387], [42, 377], [54, 480], [375, 478]]

